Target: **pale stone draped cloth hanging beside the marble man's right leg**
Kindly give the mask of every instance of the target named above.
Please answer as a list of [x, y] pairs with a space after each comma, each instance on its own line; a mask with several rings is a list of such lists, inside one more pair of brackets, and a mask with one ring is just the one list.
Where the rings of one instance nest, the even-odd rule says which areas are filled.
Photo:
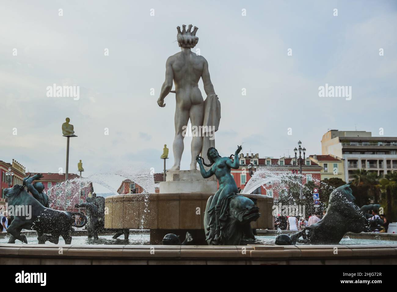
[[221, 119], [221, 103], [215, 94], [210, 94], [204, 101], [204, 122], [202, 127], [202, 149], [201, 156], [204, 162], [209, 164], [207, 151], [215, 147], [215, 132], [218, 131]]

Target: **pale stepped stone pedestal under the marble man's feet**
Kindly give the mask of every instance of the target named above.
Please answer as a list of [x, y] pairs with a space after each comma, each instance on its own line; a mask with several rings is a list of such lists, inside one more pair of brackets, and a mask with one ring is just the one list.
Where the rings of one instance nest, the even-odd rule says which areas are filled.
[[216, 177], [203, 178], [200, 170], [166, 172], [166, 181], [160, 182], [160, 193], [216, 193]]

